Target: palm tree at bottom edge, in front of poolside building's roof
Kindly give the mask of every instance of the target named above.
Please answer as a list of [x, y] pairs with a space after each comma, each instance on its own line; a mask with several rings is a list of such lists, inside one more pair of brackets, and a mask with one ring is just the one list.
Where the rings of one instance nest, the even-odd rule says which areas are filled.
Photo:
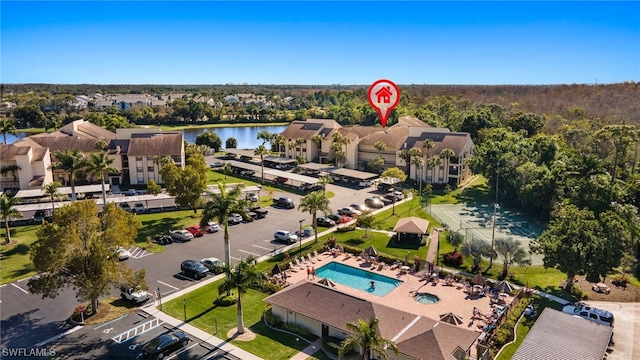
[[370, 318], [368, 321], [358, 319], [357, 323], [347, 323], [347, 329], [353, 334], [347, 336], [340, 344], [338, 358], [342, 359], [345, 353], [357, 348], [362, 349], [362, 358], [368, 360], [371, 354], [376, 352], [383, 359], [389, 359], [387, 349], [391, 349], [398, 355], [398, 347], [391, 341], [383, 338], [378, 333], [378, 319]]

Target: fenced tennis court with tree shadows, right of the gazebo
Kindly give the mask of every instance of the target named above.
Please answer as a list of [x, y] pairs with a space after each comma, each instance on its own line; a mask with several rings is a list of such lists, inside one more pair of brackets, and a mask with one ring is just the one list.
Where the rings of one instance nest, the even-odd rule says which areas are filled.
[[[477, 238], [491, 243], [493, 211], [492, 204], [431, 205], [431, 215], [449, 230], [460, 232], [466, 241]], [[542, 231], [539, 226], [513, 211], [501, 208], [496, 210], [495, 239], [510, 236], [520, 240], [528, 251], [531, 240], [540, 236]], [[542, 265], [542, 255], [531, 254], [531, 262], [533, 265]]]

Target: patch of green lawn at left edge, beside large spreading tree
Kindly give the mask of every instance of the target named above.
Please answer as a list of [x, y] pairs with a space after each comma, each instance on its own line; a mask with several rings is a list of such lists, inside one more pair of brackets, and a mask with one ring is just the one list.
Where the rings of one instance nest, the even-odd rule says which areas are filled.
[[4, 245], [4, 227], [2, 231], [2, 245], [0, 245], [0, 284], [6, 284], [18, 279], [35, 275], [36, 270], [31, 263], [29, 249], [36, 242], [38, 225], [12, 227], [12, 245]]

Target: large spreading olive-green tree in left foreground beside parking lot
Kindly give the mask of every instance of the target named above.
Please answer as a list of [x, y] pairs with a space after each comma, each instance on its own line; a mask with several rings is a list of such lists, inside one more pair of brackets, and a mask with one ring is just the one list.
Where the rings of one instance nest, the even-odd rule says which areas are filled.
[[95, 314], [100, 296], [131, 280], [131, 271], [115, 251], [131, 246], [139, 228], [135, 216], [114, 204], [107, 204], [101, 217], [93, 200], [59, 208], [53, 222], [38, 229], [38, 241], [31, 247], [31, 261], [40, 275], [29, 280], [29, 291], [55, 298], [71, 285], [79, 300], [91, 302]]

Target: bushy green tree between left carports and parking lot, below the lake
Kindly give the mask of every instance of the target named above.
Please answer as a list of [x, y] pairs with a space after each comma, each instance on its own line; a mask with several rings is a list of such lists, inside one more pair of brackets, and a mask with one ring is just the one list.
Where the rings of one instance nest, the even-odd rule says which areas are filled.
[[183, 168], [175, 164], [167, 164], [160, 169], [160, 175], [171, 196], [175, 196], [176, 204], [191, 208], [198, 212], [198, 205], [202, 201], [202, 193], [207, 188], [207, 164], [204, 156], [195, 153], [187, 159]]

